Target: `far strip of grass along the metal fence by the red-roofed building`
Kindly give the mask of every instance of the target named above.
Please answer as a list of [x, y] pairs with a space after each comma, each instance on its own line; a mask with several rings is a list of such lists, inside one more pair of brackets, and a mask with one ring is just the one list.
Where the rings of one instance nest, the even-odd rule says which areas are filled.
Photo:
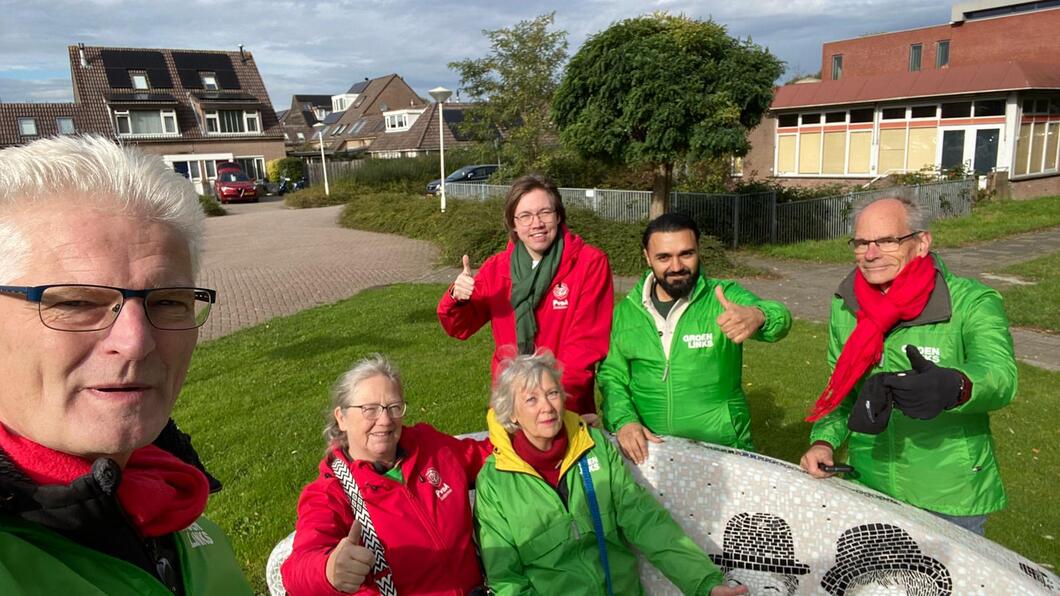
[[[995, 200], [975, 206], [972, 214], [932, 225], [934, 246], [957, 248], [1007, 235], [1060, 226], [1060, 196], [1030, 200]], [[750, 248], [763, 257], [817, 263], [852, 263], [847, 239], [811, 240]]]

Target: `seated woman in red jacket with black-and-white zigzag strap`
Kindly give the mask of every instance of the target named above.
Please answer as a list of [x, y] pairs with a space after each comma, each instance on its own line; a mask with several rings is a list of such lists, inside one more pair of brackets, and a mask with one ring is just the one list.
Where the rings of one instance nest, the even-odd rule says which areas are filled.
[[482, 584], [467, 491], [492, 450], [403, 426], [398, 369], [366, 357], [332, 390], [320, 475], [302, 491], [284, 588], [466, 596]]

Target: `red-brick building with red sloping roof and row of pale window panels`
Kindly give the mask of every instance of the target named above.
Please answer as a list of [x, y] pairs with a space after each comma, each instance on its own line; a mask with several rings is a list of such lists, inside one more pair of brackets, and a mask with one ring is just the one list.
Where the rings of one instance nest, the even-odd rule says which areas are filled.
[[791, 185], [965, 165], [1060, 194], [1060, 3], [956, 4], [951, 22], [826, 42], [777, 89], [743, 172]]

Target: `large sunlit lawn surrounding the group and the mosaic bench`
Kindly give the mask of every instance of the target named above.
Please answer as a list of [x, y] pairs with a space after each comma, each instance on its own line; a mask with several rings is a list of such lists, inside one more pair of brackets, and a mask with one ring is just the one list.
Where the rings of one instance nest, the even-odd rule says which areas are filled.
[[[447, 337], [435, 316], [442, 285], [395, 285], [273, 319], [198, 348], [174, 418], [192, 434], [207, 466], [225, 481], [208, 514], [232, 539], [255, 591], [265, 561], [294, 529], [302, 486], [317, 475], [331, 384], [354, 361], [383, 352], [402, 368], [407, 423], [428, 421], [459, 434], [484, 428], [492, 338]], [[826, 329], [796, 322], [775, 345], [752, 343], [744, 381], [762, 453], [798, 461], [802, 422], [827, 375]], [[1060, 374], [1021, 366], [1015, 404], [994, 417], [1008, 509], [987, 536], [1040, 562], [1056, 564], [1060, 527], [1048, 506], [1057, 487]]]

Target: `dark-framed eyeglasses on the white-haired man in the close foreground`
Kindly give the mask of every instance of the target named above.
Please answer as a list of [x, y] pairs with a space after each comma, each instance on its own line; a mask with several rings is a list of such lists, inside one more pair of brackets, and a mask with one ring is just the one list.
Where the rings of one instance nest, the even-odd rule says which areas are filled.
[[156, 329], [186, 331], [206, 322], [217, 292], [205, 287], [127, 290], [108, 285], [0, 285], [0, 294], [21, 295], [37, 303], [40, 322], [56, 331], [100, 331], [118, 320], [129, 298], [143, 300]]

